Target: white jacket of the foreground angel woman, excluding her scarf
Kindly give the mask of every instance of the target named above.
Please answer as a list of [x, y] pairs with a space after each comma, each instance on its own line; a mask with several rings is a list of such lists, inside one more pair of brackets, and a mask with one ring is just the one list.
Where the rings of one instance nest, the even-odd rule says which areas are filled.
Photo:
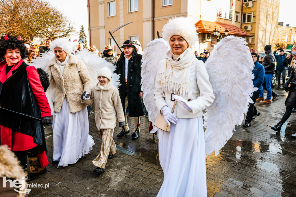
[[[160, 62], [160, 64], [161, 63], [162, 62]], [[174, 114], [177, 118], [188, 119], [200, 117], [202, 116], [202, 110], [213, 103], [215, 99], [213, 88], [209, 82], [209, 75], [205, 69], [205, 64], [202, 61], [194, 59], [190, 66], [189, 92], [185, 95], [180, 94], [179, 96], [189, 101], [192, 111], [188, 111], [177, 102], [174, 110]], [[154, 92], [154, 100], [157, 109], [160, 111], [163, 106], [168, 106], [172, 109], [174, 101], [171, 101], [171, 99], [174, 100], [171, 92], [163, 88], [157, 78]]]

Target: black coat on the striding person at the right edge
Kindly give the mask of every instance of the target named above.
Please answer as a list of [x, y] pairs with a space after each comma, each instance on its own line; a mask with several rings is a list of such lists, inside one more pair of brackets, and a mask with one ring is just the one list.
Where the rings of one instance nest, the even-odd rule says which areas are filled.
[[[289, 83], [292, 82], [290, 88], [288, 88]], [[286, 106], [296, 108], [296, 73], [295, 69], [292, 69], [289, 79], [285, 84], [285, 91], [289, 91], [287, 99], [286, 99]]]

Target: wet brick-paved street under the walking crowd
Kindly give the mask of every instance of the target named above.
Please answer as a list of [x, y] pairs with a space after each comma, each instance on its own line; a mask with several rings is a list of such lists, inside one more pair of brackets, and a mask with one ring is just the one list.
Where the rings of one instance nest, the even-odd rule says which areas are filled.
[[[261, 113], [248, 128], [237, 127], [220, 154], [206, 158], [208, 196], [296, 196], [296, 140], [295, 114], [275, 133], [270, 126], [277, 123], [285, 111], [287, 93], [274, 88], [279, 94], [271, 104], [256, 103]], [[266, 93], [265, 93], [266, 96]], [[231, 112], [230, 112], [231, 113]], [[49, 166], [48, 172], [30, 183], [48, 184], [49, 188], [32, 188], [29, 196], [156, 196], [163, 181], [159, 164], [157, 136], [148, 132], [149, 122], [142, 117], [140, 137], [131, 140], [117, 138], [115, 143], [136, 154], [117, 151], [108, 160], [106, 172], [94, 174], [91, 161], [100, 150], [99, 132], [94, 114], [90, 117], [89, 134], [93, 136], [93, 150], [76, 164], [67, 167], [52, 165], [52, 127], [46, 126]], [[129, 118], [133, 130], [133, 118]]]

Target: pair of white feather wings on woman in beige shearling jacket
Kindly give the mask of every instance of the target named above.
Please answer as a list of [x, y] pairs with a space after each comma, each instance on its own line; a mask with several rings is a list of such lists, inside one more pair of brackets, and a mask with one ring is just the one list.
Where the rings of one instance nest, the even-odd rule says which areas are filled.
[[[42, 57], [36, 57], [35, 59], [31, 60], [31, 63], [28, 65], [34, 66], [37, 68], [46, 70], [46, 67], [48, 66], [48, 62], [54, 58], [54, 53], [52, 51], [46, 51], [45, 53], [41, 54]], [[110, 80], [111, 84], [114, 85], [116, 88], [119, 86], [119, 75], [115, 74], [115, 65], [110, 64], [107, 60], [104, 58], [94, 54], [93, 52], [88, 51], [87, 49], [83, 49], [82, 51], [78, 51], [75, 56], [78, 59], [81, 59], [84, 64], [86, 65], [89, 75], [91, 77], [91, 80], [93, 81], [93, 85], [96, 85], [98, 82], [98, 79], [96, 77], [99, 70], [103, 67], [107, 67], [110, 69], [112, 73], [112, 79]], [[54, 96], [56, 92], [56, 84], [54, 79], [52, 79], [49, 82], [49, 87], [45, 93], [47, 100], [49, 102], [50, 109], [52, 111], [52, 114], [55, 114], [54, 108], [53, 108], [53, 102], [54, 102]]]

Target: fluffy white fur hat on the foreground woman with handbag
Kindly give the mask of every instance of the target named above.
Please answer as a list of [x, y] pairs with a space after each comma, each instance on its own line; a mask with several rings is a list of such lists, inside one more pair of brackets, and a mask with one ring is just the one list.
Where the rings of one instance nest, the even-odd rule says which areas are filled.
[[195, 24], [188, 17], [172, 17], [167, 24], [163, 26], [163, 38], [170, 42], [173, 35], [182, 36], [189, 47], [198, 41], [198, 33]]

